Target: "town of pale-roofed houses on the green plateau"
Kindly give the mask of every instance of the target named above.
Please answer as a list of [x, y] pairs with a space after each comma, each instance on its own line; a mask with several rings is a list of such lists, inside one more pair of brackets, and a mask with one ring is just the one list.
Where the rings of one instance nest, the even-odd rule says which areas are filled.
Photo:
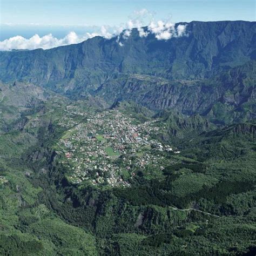
[[[82, 122], [71, 118], [75, 113]], [[142, 123], [116, 109], [90, 113], [68, 107], [59, 125], [72, 128], [58, 141], [57, 152], [70, 170], [69, 181], [130, 186], [129, 180], [140, 170], [163, 170], [169, 163], [166, 154], [173, 149], [153, 138], [160, 129], [157, 121]]]

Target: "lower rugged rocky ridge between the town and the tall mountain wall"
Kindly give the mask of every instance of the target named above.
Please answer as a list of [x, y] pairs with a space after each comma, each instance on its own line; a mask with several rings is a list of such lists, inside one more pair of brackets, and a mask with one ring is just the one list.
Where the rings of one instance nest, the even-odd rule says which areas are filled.
[[110, 103], [132, 100], [157, 111], [173, 109], [187, 116], [199, 113], [217, 123], [230, 123], [246, 115], [254, 118], [255, 68], [255, 62], [249, 62], [202, 80], [130, 75], [110, 79], [95, 93]]

